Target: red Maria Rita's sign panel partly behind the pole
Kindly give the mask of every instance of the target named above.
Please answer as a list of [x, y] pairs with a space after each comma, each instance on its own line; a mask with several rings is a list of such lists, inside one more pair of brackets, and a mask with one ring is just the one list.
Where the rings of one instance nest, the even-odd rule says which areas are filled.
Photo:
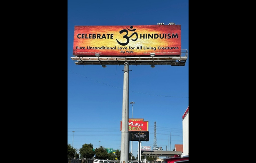
[[[122, 121], [120, 131], [122, 131]], [[128, 131], [148, 131], [148, 121], [144, 121], [144, 119], [129, 119]]]

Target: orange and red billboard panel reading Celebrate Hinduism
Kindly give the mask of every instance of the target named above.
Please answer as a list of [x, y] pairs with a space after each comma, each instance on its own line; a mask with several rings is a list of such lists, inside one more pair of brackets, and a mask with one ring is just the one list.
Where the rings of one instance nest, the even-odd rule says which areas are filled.
[[75, 26], [75, 56], [181, 55], [181, 25]]

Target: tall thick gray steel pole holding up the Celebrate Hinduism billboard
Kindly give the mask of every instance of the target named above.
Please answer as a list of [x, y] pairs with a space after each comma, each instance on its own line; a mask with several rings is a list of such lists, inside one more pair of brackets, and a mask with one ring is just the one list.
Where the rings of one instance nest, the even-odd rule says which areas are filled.
[[122, 131], [121, 131], [121, 155], [120, 162], [128, 163], [129, 161], [129, 139], [128, 139], [128, 124], [129, 124], [129, 63], [124, 63], [124, 87], [123, 87], [123, 111], [122, 111]]

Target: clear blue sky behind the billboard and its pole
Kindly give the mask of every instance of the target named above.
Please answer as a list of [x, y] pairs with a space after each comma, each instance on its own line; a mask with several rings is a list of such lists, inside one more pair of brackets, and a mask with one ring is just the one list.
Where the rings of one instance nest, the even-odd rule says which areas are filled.
[[[181, 49], [188, 50], [188, 0], [68, 0], [68, 144], [80, 149], [83, 144], [121, 149], [120, 121], [123, 107], [124, 65], [75, 65], [74, 26], [181, 25]], [[182, 54], [184, 56], [184, 54]], [[183, 144], [182, 115], [188, 107], [188, 67], [129, 65], [129, 102], [133, 118], [148, 121], [153, 147], [154, 122], [157, 146], [164, 151]], [[132, 118], [132, 104], [129, 104]], [[99, 142], [100, 141], [100, 142]], [[131, 145], [130, 145], [131, 148]], [[79, 152], [79, 151], [78, 151]], [[133, 156], [138, 141], [133, 141]]]

